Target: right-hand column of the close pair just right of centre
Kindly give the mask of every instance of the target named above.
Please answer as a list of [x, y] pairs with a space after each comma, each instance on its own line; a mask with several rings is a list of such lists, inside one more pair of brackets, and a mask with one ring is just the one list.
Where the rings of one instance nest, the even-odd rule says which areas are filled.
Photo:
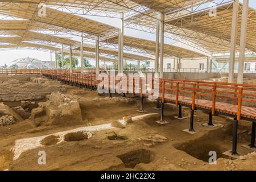
[[161, 15], [161, 39], [160, 39], [160, 70], [159, 78], [163, 78], [163, 60], [164, 60], [164, 14]]

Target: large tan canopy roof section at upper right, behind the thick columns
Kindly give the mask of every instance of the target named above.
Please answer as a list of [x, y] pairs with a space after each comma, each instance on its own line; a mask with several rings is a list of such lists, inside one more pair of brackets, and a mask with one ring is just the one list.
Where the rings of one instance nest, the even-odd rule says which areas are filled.
[[[152, 0], [154, 1], [154, 0]], [[177, 2], [177, 1], [176, 1]], [[163, 8], [164, 9], [164, 8]], [[165, 32], [172, 36], [179, 36], [191, 43], [206, 48], [209, 52], [220, 53], [230, 51], [231, 23], [233, 3], [217, 6], [217, 16], [209, 16], [209, 11], [199, 11], [193, 14], [181, 15], [179, 18], [165, 16]], [[145, 14], [137, 14], [125, 19], [127, 26], [136, 28], [139, 26], [156, 28], [156, 11], [150, 9]], [[242, 5], [239, 7], [238, 26], [241, 27]], [[249, 8], [248, 28], [246, 36], [246, 48], [256, 51], [256, 11]], [[143, 29], [143, 28], [141, 28]], [[148, 31], [152, 31], [151, 29]], [[240, 28], [237, 29], [237, 49], [240, 44]], [[172, 38], [171, 36], [171, 38]], [[189, 44], [189, 43], [188, 43]]]

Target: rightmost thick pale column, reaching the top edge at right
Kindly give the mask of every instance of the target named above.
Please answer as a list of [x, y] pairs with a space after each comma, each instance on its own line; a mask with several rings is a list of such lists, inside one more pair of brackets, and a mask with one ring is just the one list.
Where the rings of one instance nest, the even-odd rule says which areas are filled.
[[247, 14], [248, 14], [249, 0], [243, 0], [242, 10], [242, 24], [241, 24], [241, 36], [240, 36], [240, 53], [238, 63], [238, 77], [237, 83], [243, 83], [243, 67], [245, 61], [245, 46], [246, 46], [246, 32], [247, 32]]

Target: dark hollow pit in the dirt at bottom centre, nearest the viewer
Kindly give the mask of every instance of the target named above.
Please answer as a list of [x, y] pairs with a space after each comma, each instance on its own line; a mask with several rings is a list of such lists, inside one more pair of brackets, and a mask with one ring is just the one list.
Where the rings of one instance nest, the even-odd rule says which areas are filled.
[[126, 168], [135, 168], [139, 163], [151, 163], [155, 159], [155, 156], [154, 152], [150, 150], [140, 149], [119, 155], [118, 158], [122, 160]]

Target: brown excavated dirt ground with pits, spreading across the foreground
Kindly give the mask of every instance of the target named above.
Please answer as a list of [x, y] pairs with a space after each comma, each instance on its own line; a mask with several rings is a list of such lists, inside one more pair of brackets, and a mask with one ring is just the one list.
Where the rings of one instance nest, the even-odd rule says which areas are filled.
[[[100, 96], [97, 90], [67, 87], [67, 94], [82, 101], [80, 104], [84, 123], [35, 127], [30, 119], [14, 125], [0, 127], [0, 170], [255, 170], [256, 152], [241, 147], [250, 142], [250, 123], [241, 121], [238, 129], [238, 152], [246, 155], [241, 159], [230, 159], [222, 152], [232, 148], [232, 121], [226, 117], [213, 116], [217, 127], [203, 126], [208, 122], [208, 114], [195, 111], [195, 129], [199, 133], [188, 134], [183, 130], [189, 127], [189, 108], [183, 108], [182, 121], [175, 119], [178, 110], [174, 105], [165, 105], [166, 125], [155, 121], [159, 117], [147, 117], [129, 123], [125, 128], [104, 130], [86, 137], [65, 140], [23, 152], [13, 160], [11, 148], [17, 139], [39, 137], [77, 127], [112, 123], [127, 115], [132, 117], [154, 110], [156, 101], [144, 102], [146, 113], [138, 113], [139, 100], [113, 102]], [[119, 97], [118, 95], [114, 97]], [[131, 97], [131, 96], [129, 96]], [[9, 103], [11, 105], [11, 103]], [[15, 104], [17, 105], [17, 104]], [[112, 135], [123, 139], [110, 140]], [[154, 136], [167, 139], [155, 141]], [[77, 137], [77, 136], [76, 136]], [[38, 164], [38, 152], [46, 152], [46, 165]], [[217, 152], [217, 164], [208, 163], [209, 151]], [[250, 152], [252, 152], [250, 154]], [[249, 155], [247, 155], [249, 154]]]

